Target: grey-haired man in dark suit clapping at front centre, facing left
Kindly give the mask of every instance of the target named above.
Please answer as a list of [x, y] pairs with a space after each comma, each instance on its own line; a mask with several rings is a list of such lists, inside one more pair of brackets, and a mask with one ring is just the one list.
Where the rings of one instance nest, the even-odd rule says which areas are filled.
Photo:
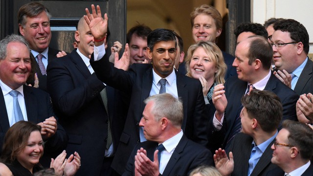
[[212, 165], [211, 152], [181, 130], [182, 102], [169, 93], [145, 101], [139, 126], [148, 141], [137, 144], [123, 176], [187, 176], [199, 165]]

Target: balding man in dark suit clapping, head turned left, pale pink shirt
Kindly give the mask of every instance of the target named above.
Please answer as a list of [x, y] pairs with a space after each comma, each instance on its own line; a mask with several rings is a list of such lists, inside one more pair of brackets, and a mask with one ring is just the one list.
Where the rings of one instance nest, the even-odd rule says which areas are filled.
[[221, 148], [227, 147], [226, 144], [230, 144], [235, 134], [240, 132], [239, 115], [243, 108], [240, 100], [249, 89], [274, 92], [283, 105], [283, 120], [297, 120], [295, 104], [299, 96], [271, 73], [272, 48], [267, 39], [250, 36], [237, 44], [235, 54], [233, 66], [238, 78], [217, 85], [212, 98], [216, 112], [209, 129], [212, 138], [224, 138]]

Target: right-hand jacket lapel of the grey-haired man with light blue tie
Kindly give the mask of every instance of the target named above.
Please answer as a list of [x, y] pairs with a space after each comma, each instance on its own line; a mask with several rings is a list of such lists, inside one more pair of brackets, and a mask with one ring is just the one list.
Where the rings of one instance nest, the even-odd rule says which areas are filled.
[[28, 86], [23, 86], [24, 93], [24, 101], [27, 112], [27, 121], [37, 122], [38, 110], [36, 109], [38, 106], [37, 98], [33, 94], [32, 88]]

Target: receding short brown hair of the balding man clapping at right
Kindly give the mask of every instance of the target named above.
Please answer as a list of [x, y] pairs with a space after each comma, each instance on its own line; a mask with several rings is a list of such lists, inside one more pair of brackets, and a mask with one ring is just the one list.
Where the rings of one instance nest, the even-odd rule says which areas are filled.
[[262, 62], [263, 68], [269, 69], [273, 58], [273, 48], [268, 43], [268, 40], [261, 36], [250, 36], [250, 46], [247, 57], [248, 64], [251, 65], [253, 61], [259, 59]]

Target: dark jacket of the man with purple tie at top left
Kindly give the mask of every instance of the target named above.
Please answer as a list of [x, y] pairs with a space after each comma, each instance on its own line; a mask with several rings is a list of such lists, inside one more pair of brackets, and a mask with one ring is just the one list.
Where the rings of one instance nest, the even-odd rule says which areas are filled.
[[[57, 58], [59, 50], [50, 48], [48, 49], [48, 64]], [[39, 88], [42, 90], [47, 91], [47, 75], [43, 75], [40, 71], [39, 65], [36, 61], [36, 58], [33, 56], [32, 53], [30, 53], [30, 59], [31, 59], [31, 67], [32, 71], [27, 79], [27, 84], [31, 84], [34, 86], [34, 75], [37, 73], [38, 79], [39, 79]]]

